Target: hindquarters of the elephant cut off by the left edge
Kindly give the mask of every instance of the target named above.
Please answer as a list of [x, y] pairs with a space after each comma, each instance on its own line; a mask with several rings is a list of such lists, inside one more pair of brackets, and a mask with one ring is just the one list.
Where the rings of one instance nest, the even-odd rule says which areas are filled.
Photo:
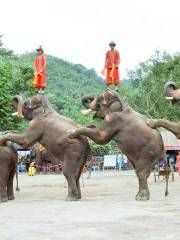
[[[17, 162], [18, 154], [12, 143], [0, 146], [0, 202], [14, 199], [13, 179]], [[19, 190], [18, 180], [16, 190]]]

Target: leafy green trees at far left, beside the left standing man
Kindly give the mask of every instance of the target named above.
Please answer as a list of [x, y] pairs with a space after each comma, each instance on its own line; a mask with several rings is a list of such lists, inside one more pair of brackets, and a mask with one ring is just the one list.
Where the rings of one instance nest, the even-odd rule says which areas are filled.
[[0, 130], [22, 128], [24, 123], [11, 116], [12, 97], [31, 93], [32, 69], [17, 62], [12, 51], [0, 48]]

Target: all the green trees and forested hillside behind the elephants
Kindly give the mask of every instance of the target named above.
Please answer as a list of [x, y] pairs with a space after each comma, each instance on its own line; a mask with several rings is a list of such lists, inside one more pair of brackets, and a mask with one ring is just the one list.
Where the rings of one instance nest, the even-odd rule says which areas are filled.
[[[11, 117], [12, 97], [21, 94], [32, 96], [34, 53], [16, 56], [0, 44], [0, 130], [22, 129], [25, 122]], [[73, 64], [57, 57], [47, 56], [48, 96], [53, 107], [62, 115], [80, 124], [94, 122], [91, 116], [80, 111], [83, 95], [97, 95], [106, 89], [103, 79], [93, 69]], [[180, 119], [178, 109], [164, 98], [165, 82], [173, 80], [180, 86], [180, 54], [155, 52], [134, 71], [129, 71], [127, 81], [121, 85], [123, 98], [138, 112], [151, 118]], [[97, 122], [96, 122], [97, 123]]]

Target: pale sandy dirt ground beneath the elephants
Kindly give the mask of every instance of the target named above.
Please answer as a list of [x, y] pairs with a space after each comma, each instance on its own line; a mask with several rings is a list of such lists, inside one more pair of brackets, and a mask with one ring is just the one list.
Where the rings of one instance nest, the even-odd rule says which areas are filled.
[[[16, 199], [0, 204], [0, 240], [178, 240], [180, 177], [149, 178], [151, 200], [137, 202], [133, 171], [84, 175], [82, 200], [66, 202], [62, 175], [20, 174]], [[82, 180], [81, 180], [82, 185]]]

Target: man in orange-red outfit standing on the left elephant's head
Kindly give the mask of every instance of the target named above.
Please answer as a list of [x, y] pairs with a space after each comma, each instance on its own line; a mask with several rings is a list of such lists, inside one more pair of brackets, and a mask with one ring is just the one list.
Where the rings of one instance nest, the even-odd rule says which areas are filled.
[[37, 93], [43, 93], [46, 88], [46, 56], [44, 51], [40, 46], [37, 50], [37, 55], [34, 58], [34, 79], [33, 84], [34, 88], [37, 90]]

